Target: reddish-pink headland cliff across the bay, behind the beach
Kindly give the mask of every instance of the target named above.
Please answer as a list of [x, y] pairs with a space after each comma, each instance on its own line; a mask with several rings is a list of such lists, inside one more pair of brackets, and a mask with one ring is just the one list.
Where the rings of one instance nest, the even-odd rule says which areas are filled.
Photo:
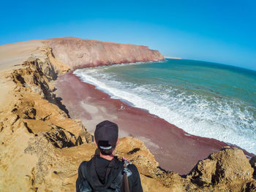
[[150, 50], [143, 45], [119, 44], [74, 37], [46, 39], [45, 44], [52, 47], [53, 55], [71, 69], [164, 60], [158, 50]]

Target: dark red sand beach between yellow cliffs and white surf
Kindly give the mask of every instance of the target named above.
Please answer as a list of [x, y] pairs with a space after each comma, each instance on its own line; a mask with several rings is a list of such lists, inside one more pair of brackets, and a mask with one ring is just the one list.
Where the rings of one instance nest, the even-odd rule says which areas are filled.
[[162, 169], [187, 174], [198, 160], [227, 145], [216, 139], [187, 136], [181, 128], [156, 115], [110, 99], [108, 94], [81, 82], [71, 72], [59, 77], [56, 88], [56, 95], [62, 99], [70, 117], [81, 119], [91, 134], [97, 123], [111, 120], [119, 126], [119, 137], [143, 140]]

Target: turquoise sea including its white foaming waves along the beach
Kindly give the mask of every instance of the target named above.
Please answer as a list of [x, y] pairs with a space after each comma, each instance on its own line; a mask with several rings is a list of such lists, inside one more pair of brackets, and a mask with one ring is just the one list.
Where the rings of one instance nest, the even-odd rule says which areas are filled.
[[167, 59], [78, 69], [84, 82], [148, 110], [189, 134], [256, 154], [256, 72], [203, 61]]

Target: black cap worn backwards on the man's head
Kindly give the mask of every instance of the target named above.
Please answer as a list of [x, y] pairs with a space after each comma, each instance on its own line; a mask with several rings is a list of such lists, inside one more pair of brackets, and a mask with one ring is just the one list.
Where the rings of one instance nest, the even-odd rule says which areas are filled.
[[116, 123], [104, 120], [96, 126], [94, 138], [100, 149], [110, 150], [116, 147], [118, 126]]

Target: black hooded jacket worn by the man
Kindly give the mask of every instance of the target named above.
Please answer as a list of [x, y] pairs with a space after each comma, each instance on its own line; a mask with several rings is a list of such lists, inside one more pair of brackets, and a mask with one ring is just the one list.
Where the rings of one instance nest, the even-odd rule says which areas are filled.
[[[143, 191], [140, 183], [140, 174], [135, 165], [129, 164], [127, 168], [130, 171], [128, 177], [129, 191]], [[80, 192], [79, 185], [87, 181], [91, 188], [97, 191], [107, 191], [109, 186], [113, 184], [121, 188], [122, 170], [124, 164], [115, 157], [112, 161], [105, 158], [100, 158], [99, 155], [94, 155], [90, 161], [83, 161], [78, 169], [78, 180], [76, 182], [76, 190]]]

